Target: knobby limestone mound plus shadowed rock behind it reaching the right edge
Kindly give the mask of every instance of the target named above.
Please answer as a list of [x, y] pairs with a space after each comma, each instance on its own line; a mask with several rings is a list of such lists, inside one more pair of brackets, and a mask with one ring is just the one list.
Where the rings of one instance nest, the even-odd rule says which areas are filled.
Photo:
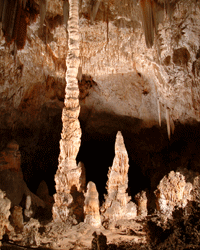
[[189, 201], [199, 202], [199, 173], [184, 168], [171, 171], [160, 181], [156, 195], [157, 210], [170, 217], [175, 209], [185, 208]]

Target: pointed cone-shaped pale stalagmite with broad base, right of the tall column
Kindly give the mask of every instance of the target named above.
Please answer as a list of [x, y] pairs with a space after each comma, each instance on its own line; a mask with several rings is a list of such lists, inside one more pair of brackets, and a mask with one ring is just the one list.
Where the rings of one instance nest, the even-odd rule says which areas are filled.
[[115, 141], [115, 157], [108, 172], [107, 195], [101, 207], [105, 221], [133, 219], [137, 216], [136, 205], [130, 201], [126, 190], [128, 188], [128, 154], [121, 132], [117, 133]]

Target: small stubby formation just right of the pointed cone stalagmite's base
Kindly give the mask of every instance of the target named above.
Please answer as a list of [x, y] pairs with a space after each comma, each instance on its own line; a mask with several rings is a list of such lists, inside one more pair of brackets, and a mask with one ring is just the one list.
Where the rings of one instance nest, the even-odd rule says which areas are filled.
[[146, 192], [142, 191], [135, 196], [137, 201], [137, 216], [145, 217], [148, 214]]

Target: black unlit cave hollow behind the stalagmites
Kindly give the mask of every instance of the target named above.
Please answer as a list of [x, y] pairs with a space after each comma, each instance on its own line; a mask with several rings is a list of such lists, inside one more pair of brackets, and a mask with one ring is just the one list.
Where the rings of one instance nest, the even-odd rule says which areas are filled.
[[[45, 111], [50, 112], [50, 111]], [[4, 138], [15, 139], [20, 145], [21, 168], [24, 180], [29, 189], [36, 193], [44, 180], [50, 195], [55, 193], [54, 176], [58, 167], [59, 141], [62, 130], [62, 110], [56, 115], [46, 115], [45, 122], [30, 128], [19, 127], [15, 131], [7, 131]], [[77, 163], [82, 161], [86, 168], [86, 181], [93, 181], [99, 192], [100, 203], [106, 194], [108, 168], [114, 159], [115, 138], [118, 130], [122, 132], [129, 156], [129, 195], [134, 196], [146, 190], [151, 200], [154, 190], [164, 175], [178, 167], [200, 172], [200, 124], [175, 124], [175, 133], [169, 141], [167, 126], [136, 129], [129, 132], [134, 120], [124, 121], [124, 117], [107, 116], [103, 120], [104, 130], [96, 131], [80, 119], [82, 138]], [[48, 119], [47, 119], [48, 118]], [[105, 118], [105, 116], [104, 116]], [[95, 118], [96, 119], [96, 118]], [[137, 124], [138, 121], [137, 121]], [[137, 125], [138, 126], [138, 125]], [[4, 131], [5, 132], [5, 131]], [[2, 134], [2, 131], [1, 131]], [[153, 208], [155, 204], [149, 204]]]

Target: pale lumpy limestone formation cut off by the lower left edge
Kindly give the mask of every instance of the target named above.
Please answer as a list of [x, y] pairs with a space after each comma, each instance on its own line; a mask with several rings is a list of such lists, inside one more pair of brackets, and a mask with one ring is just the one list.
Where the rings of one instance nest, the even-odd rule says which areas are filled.
[[[6, 231], [11, 231], [12, 227], [9, 222], [11, 202], [6, 197], [5, 192], [0, 190], [0, 240]], [[1, 247], [1, 241], [0, 241]]]

